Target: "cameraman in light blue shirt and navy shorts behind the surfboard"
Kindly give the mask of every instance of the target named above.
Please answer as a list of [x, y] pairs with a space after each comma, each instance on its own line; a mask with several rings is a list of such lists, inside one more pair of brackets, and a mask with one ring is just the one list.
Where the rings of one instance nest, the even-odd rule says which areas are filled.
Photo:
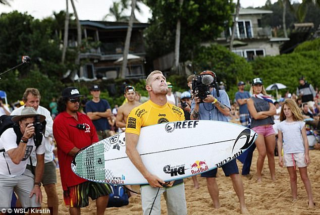
[[[202, 83], [194, 82], [192, 84], [192, 89], [198, 89], [198, 91], [195, 92], [195, 98], [191, 104], [191, 120], [216, 120], [228, 122], [227, 116], [229, 115], [231, 109], [230, 100], [227, 92], [225, 90], [219, 90], [217, 87], [216, 74], [208, 70], [203, 71], [199, 76], [197, 76], [197, 79], [202, 80]], [[207, 80], [211, 80], [211, 83], [208, 83], [209, 81]], [[197, 88], [197, 84], [207, 84], [208, 92], [199, 90], [201, 87]], [[215, 88], [213, 86], [215, 86]], [[217, 91], [217, 88], [219, 91]], [[206, 96], [204, 96], [204, 94], [206, 94]], [[205, 98], [201, 99], [199, 96]], [[214, 132], [215, 130], [212, 129], [212, 131]], [[238, 195], [241, 213], [247, 213], [248, 211], [244, 201], [242, 179], [239, 176], [236, 159], [233, 159], [227, 164], [223, 165], [222, 169], [225, 175], [230, 176], [232, 179], [234, 190]], [[218, 169], [214, 169], [201, 174], [201, 177], [206, 178], [208, 191], [212, 200], [214, 201], [215, 208], [220, 208], [219, 187], [216, 182], [217, 172]]]

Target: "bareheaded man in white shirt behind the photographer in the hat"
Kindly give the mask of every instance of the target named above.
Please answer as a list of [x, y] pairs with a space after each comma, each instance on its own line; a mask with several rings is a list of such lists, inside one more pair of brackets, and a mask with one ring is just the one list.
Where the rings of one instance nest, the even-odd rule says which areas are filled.
[[[57, 183], [57, 172], [56, 165], [54, 162], [54, 146], [50, 144], [49, 138], [53, 138], [52, 125], [54, 121], [52, 120], [50, 112], [40, 105], [41, 95], [38, 89], [36, 88], [27, 88], [23, 93], [22, 100], [24, 101], [23, 106], [15, 109], [11, 115], [20, 115], [22, 110], [25, 107], [32, 107], [38, 114], [45, 116], [45, 132], [44, 132], [44, 173], [41, 183], [44, 187], [45, 193], [47, 195], [47, 205], [48, 207], [53, 208], [53, 214], [58, 214], [59, 207], [59, 198], [56, 189]], [[30, 158], [28, 158], [27, 169], [29, 169], [32, 173], [34, 172], [34, 167], [37, 164], [36, 155], [32, 153]]]

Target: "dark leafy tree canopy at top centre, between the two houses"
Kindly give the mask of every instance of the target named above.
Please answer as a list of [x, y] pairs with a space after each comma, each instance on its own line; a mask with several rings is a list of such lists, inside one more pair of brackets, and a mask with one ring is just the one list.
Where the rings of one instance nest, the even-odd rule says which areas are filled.
[[193, 51], [201, 41], [212, 40], [229, 26], [235, 5], [232, 1], [147, 0], [152, 11], [150, 26], [146, 30], [148, 55], [154, 59], [175, 48], [177, 20], [181, 21], [180, 59], [192, 59]]

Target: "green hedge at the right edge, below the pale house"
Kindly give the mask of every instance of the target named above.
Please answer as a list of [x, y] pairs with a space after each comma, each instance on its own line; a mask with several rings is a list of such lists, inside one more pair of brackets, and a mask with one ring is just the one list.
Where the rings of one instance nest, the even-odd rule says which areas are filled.
[[[299, 84], [298, 78], [302, 75], [313, 87], [320, 86], [320, 80], [315, 77], [320, 67], [319, 51], [303, 51], [290, 53], [276, 57], [258, 58], [251, 62], [254, 77], [261, 77], [264, 86], [278, 82], [288, 88], [286, 90], [296, 92]], [[275, 94], [273, 91], [269, 93]]]

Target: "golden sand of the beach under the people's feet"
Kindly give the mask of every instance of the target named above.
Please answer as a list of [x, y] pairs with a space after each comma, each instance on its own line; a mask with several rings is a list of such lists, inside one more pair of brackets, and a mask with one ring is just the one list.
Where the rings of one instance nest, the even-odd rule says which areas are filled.
[[[250, 214], [320, 214], [320, 150], [310, 150], [311, 164], [308, 166], [308, 176], [312, 185], [312, 193], [315, 208], [307, 208], [307, 195], [304, 185], [298, 174], [298, 200], [293, 202], [290, 191], [290, 179], [286, 168], [278, 165], [276, 156], [276, 182], [270, 179], [268, 161], [264, 162], [263, 178], [261, 183], [255, 182], [257, 150], [254, 151], [251, 177], [242, 177], [245, 189], [245, 201]], [[238, 162], [239, 171], [242, 164]], [[59, 195], [59, 214], [69, 214], [68, 207], [63, 201], [63, 190], [61, 187], [60, 173], [58, 173], [57, 190]], [[185, 179], [185, 193], [187, 200], [188, 214], [239, 214], [238, 198], [232, 187], [229, 177], [225, 177], [222, 169], [218, 171], [218, 184], [220, 188], [220, 202], [222, 207], [215, 209], [209, 193], [206, 188], [204, 178], [197, 177], [200, 188], [194, 189], [191, 178]], [[134, 187], [138, 190], [138, 187]], [[43, 188], [42, 188], [43, 189]], [[140, 195], [130, 197], [129, 205], [117, 208], [106, 208], [104, 214], [142, 214]], [[162, 214], [167, 214], [166, 202], [162, 196], [161, 200]], [[46, 206], [46, 194], [43, 190], [42, 206]], [[81, 209], [82, 214], [95, 214], [95, 202], [90, 200], [89, 206]]]

